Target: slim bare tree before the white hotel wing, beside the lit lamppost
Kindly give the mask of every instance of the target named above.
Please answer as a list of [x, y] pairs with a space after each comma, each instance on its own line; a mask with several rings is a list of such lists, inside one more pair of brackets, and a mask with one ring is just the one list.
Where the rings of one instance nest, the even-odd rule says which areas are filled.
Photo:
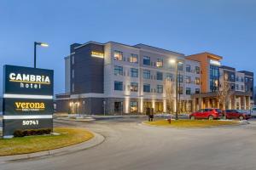
[[164, 89], [165, 89], [165, 94], [166, 94], [166, 107], [168, 108], [169, 113], [171, 114], [172, 112], [172, 103], [173, 103], [173, 83], [172, 80], [169, 78], [166, 78], [164, 81]]

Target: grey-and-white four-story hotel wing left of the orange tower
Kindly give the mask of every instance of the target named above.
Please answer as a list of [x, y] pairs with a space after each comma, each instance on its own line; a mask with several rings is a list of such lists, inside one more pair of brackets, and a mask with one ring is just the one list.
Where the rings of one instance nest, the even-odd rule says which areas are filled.
[[[176, 65], [169, 61], [175, 59]], [[176, 75], [177, 68], [177, 75]], [[175, 111], [166, 106], [165, 80], [176, 89], [180, 112], [192, 111], [191, 94], [201, 92], [200, 62], [145, 44], [87, 42], [71, 45], [65, 58], [65, 94], [56, 95], [57, 111], [84, 114]]]

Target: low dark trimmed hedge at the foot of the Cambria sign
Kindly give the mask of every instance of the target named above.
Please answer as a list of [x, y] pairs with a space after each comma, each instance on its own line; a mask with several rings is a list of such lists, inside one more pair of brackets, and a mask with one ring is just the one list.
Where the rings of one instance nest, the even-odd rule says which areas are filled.
[[50, 128], [40, 128], [40, 129], [27, 129], [27, 130], [15, 130], [15, 137], [24, 137], [32, 135], [43, 135], [51, 133]]

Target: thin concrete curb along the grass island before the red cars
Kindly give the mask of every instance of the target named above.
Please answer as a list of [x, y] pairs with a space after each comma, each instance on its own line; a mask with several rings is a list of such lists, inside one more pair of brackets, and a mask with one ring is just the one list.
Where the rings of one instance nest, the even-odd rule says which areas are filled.
[[142, 126], [148, 126], [148, 127], [164, 127], [164, 128], [173, 128], [173, 129], [195, 129], [195, 128], [218, 128], [218, 127], [238, 127], [241, 125], [248, 125], [250, 124], [249, 122], [240, 122], [238, 124], [234, 125], [220, 125], [220, 126], [210, 126], [210, 127], [166, 127], [166, 126], [158, 126], [158, 125], [148, 125], [145, 122], [139, 123]]

